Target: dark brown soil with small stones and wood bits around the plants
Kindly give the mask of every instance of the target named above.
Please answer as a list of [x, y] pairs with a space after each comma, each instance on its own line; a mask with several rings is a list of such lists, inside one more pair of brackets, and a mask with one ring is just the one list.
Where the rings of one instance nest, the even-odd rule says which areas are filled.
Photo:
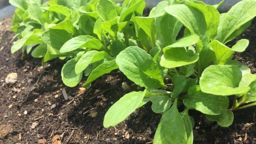
[[[102, 125], [109, 107], [128, 93], [121, 88], [122, 82], [127, 82], [134, 91], [139, 91], [137, 86], [115, 71], [99, 78], [82, 94], [79, 92], [82, 83], [75, 88], [66, 87], [60, 76], [65, 61], [56, 59], [47, 63], [42, 73], [41, 59], [25, 55], [21, 61], [21, 52], [11, 54], [10, 40], [14, 34], [9, 31], [10, 21], [8, 18], [0, 22], [0, 143], [30, 144], [44, 141], [42, 139], [52, 143], [55, 135], [60, 136], [62, 143], [152, 143], [161, 115], [152, 112], [151, 103], [136, 110], [115, 128], [105, 129]], [[235, 54], [235, 59], [248, 65], [254, 73], [255, 31], [255, 25], [252, 25], [241, 36], [250, 39], [250, 45], [245, 52]], [[5, 77], [12, 72], [17, 72], [17, 82], [6, 84]], [[38, 85], [35, 85], [39, 77]], [[68, 100], [64, 99], [63, 89], [69, 95]], [[29, 92], [27, 100], [22, 103]], [[215, 127], [216, 123], [207, 122], [203, 114], [190, 111], [195, 119], [195, 143], [256, 143], [254, 111], [255, 107], [234, 112], [234, 123], [228, 128]], [[35, 122], [37, 125], [32, 129]]]

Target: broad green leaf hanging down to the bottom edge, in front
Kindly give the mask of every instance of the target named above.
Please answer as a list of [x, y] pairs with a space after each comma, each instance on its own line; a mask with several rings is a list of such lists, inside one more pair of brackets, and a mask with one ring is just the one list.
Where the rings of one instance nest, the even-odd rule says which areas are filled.
[[162, 130], [170, 143], [186, 144], [186, 128], [177, 109], [177, 100], [175, 100], [172, 107], [162, 115]]

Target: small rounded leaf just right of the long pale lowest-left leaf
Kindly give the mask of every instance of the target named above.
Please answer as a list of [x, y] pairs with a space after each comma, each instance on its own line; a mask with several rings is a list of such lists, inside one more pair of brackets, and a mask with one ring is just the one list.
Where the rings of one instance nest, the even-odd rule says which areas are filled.
[[[152, 111], [155, 113], [163, 113], [172, 105], [172, 99], [169, 98], [169, 93], [164, 90], [151, 91], [150, 101], [152, 102]], [[157, 93], [157, 94], [156, 94]]]

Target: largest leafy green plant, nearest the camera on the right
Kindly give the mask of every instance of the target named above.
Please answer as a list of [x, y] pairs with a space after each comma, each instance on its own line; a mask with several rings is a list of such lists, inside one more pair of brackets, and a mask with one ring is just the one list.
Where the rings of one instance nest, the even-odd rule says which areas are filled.
[[[249, 41], [241, 39], [232, 48], [225, 45], [248, 28], [256, 16], [256, 1], [243, 0], [223, 14], [217, 10], [220, 5], [163, 1], [148, 17], [132, 18], [137, 38], [147, 35], [151, 47], [130, 46], [117, 55], [116, 64], [145, 90], [121, 97], [106, 113], [105, 128], [116, 126], [151, 101], [152, 110], [162, 113], [154, 143], [192, 144], [190, 109], [228, 127], [232, 111], [256, 105], [256, 75], [232, 60], [234, 52], [245, 51]], [[182, 26], [184, 36], [176, 40]], [[173, 86], [165, 84], [164, 78], [170, 78]], [[228, 96], [234, 99], [231, 108]]]

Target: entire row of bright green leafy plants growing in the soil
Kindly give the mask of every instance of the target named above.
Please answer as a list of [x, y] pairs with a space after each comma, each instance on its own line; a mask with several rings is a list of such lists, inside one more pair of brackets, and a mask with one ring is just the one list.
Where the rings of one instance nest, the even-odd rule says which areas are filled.
[[211, 6], [164, 0], [147, 17], [142, 15], [144, 0], [125, 0], [122, 6], [111, 0], [10, 3], [18, 8], [11, 30], [20, 38], [12, 52], [32, 51], [43, 64], [66, 60], [61, 76], [69, 87], [78, 85], [83, 75], [88, 76], [84, 87], [90, 87], [98, 77], [119, 69], [145, 88], [125, 94], [108, 110], [106, 128], [151, 101], [152, 110], [162, 113], [154, 143], [188, 144], [193, 143], [194, 126], [189, 110], [227, 127], [233, 111], [256, 105], [256, 75], [232, 60], [249, 41], [238, 40], [232, 48], [225, 45], [250, 26], [255, 0], [243, 0], [222, 14], [217, 10], [222, 2]]

